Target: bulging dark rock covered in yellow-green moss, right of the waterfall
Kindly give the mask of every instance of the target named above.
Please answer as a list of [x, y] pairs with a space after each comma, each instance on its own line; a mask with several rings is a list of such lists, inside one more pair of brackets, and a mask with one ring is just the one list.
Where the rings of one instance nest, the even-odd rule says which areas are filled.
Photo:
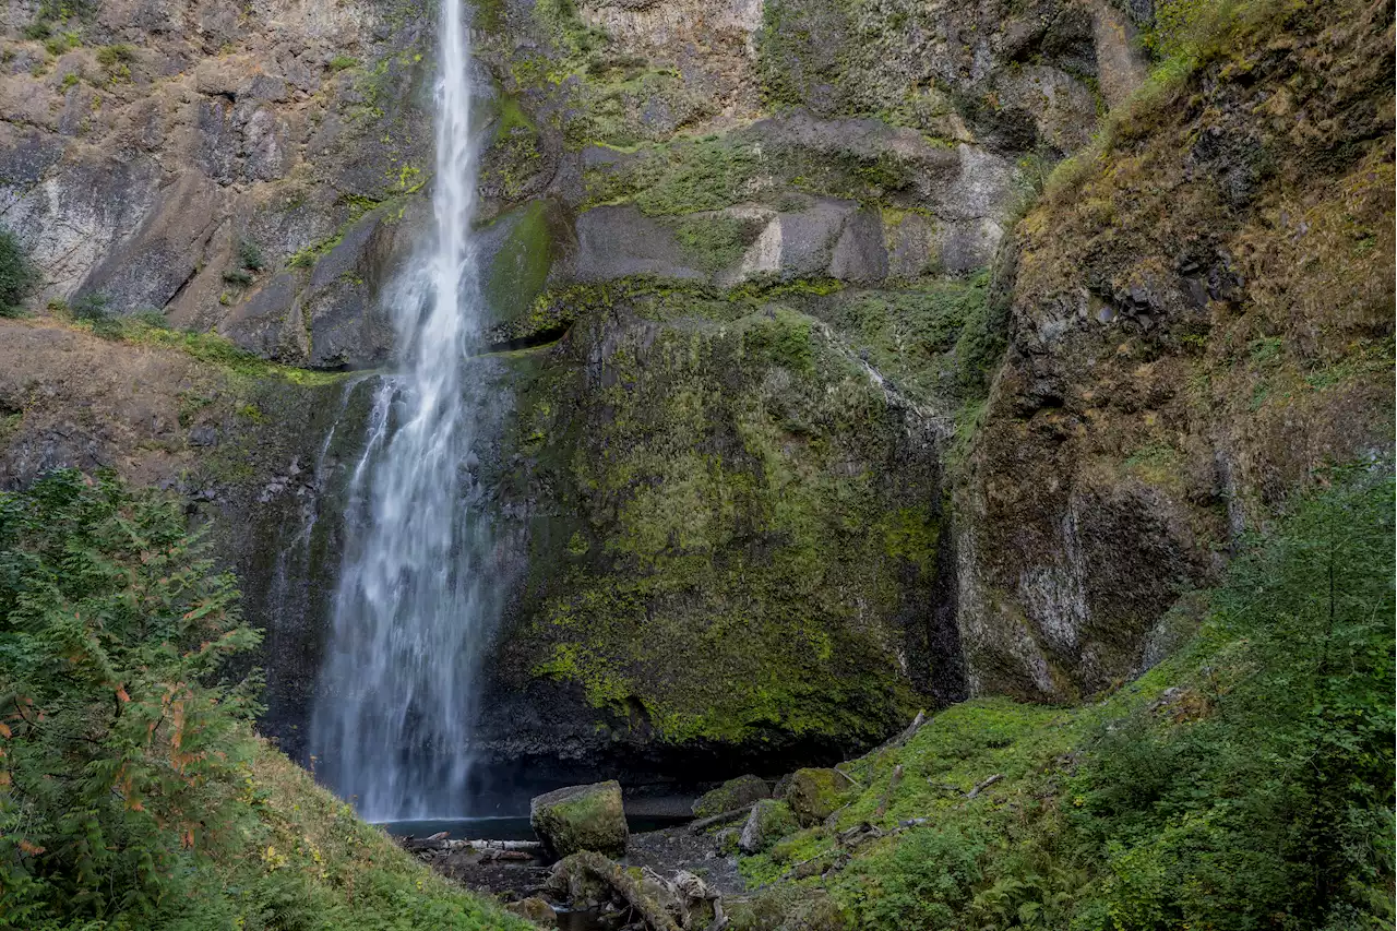
[[826, 291], [594, 289], [538, 356], [503, 478], [555, 502], [507, 637], [532, 677], [676, 744], [861, 745], [911, 717], [933, 439], [787, 306]]

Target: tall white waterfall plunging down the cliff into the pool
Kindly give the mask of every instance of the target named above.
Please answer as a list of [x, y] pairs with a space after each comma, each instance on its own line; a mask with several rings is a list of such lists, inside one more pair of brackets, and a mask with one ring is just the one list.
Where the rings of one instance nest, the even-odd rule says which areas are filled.
[[481, 320], [462, 0], [443, 0], [436, 235], [390, 298], [402, 372], [379, 386], [310, 724], [317, 776], [370, 821], [462, 814], [479, 651], [496, 614], [464, 376]]

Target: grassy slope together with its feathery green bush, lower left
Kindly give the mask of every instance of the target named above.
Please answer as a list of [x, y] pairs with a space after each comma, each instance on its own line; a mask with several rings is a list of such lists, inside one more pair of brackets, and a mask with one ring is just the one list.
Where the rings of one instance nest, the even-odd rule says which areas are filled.
[[0, 928], [482, 928], [251, 734], [258, 633], [177, 502], [0, 495]]

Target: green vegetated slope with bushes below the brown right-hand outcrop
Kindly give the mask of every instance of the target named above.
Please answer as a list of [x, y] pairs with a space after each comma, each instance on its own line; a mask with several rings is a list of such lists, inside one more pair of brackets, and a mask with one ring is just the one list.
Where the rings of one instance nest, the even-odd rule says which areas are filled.
[[[1397, 477], [1330, 478], [1109, 700], [982, 699], [845, 765], [834, 828], [743, 861], [738, 925], [1394, 927]], [[841, 847], [861, 822], [897, 833]]]

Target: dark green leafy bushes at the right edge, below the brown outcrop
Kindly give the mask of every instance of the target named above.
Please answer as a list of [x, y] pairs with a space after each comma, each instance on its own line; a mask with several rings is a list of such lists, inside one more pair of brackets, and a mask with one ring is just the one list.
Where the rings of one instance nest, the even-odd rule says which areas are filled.
[[1193, 681], [1113, 724], [1076, 788], [1118, 925], [1390, 927], [1397, 478], [1299, 505], [1232, 566], [1193, 653]]

